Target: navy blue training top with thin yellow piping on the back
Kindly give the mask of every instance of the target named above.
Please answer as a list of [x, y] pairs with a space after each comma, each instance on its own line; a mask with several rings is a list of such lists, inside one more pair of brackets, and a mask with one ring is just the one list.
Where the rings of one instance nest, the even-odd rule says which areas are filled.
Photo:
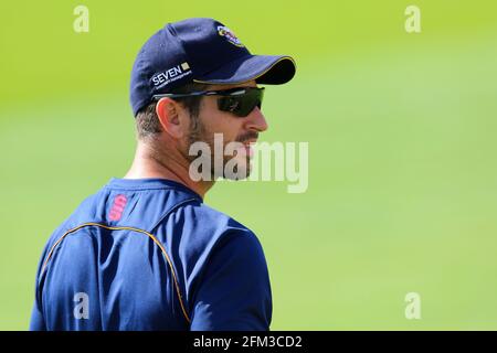
[[165, 179], [112, 179], [52, 234], [30, 330], [268, 330], [256, 236]]

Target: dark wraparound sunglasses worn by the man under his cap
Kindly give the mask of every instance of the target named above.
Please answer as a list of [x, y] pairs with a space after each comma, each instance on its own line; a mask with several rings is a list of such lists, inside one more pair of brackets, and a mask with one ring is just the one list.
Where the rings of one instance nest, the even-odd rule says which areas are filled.
[[169, 93], [155, 95], [154, 99], [160, 98], [183, 98], [191, 96], [220, 96], [218, 98], [218, 108], [222, 111], [229, 111], [237, 117], [246, 117], [255, 107], [261, 108], [264, 97], [264, 87], [237, 87], [224, 90], [199, 90], [192, 93]]

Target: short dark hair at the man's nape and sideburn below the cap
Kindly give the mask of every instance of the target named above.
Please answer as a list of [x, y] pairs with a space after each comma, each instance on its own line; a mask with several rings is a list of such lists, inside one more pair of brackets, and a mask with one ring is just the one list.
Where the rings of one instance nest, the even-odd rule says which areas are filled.
[[[190, 83], [184, 86], [181, 86], [180, 88], [175, 89], [175, 93], [191, 93], [197, 90], [205, 90], [207, 87], [208, 85], [205, 84]], [[175, 100], [177, 100], [188, 109], [194, 129], [195, 126], [198, 125], [200, 101], [202, 100], [202, 96], [175, 98]], [[154, 100], [152, 103], [150, 103], [148, 106], [145, 106], [136, 114], [135, 117], [136, 131], [138, 135], [138, 139], [145, 139], [162, 132], [162, 126], [160, 125], [159, 117], [157, 116], [156, 106], [157, 101]]]

